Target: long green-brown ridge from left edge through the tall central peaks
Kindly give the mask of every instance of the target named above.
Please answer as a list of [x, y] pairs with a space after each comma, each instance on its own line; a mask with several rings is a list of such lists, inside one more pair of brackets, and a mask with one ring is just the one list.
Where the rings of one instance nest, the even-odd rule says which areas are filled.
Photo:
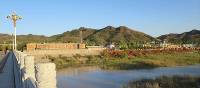
[[[62, 34], [53, 35], [50, 37], [43, 35], [17, 35], [18, 46], [25, 46], [26, 43], [79, 43], [80, 30], [82, 30], [82, 39], [87, 45], [107, 45], [110, 43], [116, 44], [130, 44], [135, 42], [150, 42], [156, 41], [155, 38], [145, 33], [135, 31], [125, 26], [112, 27], [107, 26], [102, 29], [92, 29], [81, 27], [72, 31], [66, 31]], [[12, 36], [7, 34], [0, 34], [0, 43], [12, 43]]]

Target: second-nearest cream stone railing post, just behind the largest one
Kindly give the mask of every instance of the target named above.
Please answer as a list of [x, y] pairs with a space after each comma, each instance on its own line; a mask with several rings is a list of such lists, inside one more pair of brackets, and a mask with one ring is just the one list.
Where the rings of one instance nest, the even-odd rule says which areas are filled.
[[31, 77], [35, 80], [35, 68], [34, 68], [34, 57], [33, 56], [25, 56], [24, 60], [25, 67], [25, 80], [28, 77]]

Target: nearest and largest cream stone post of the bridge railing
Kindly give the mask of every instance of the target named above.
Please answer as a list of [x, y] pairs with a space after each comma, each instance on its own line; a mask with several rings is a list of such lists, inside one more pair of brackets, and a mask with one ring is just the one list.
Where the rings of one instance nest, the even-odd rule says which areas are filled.
[[38, 63], [35, 69], [38, 88], [56, 88], [56, 70], [54, 63]]

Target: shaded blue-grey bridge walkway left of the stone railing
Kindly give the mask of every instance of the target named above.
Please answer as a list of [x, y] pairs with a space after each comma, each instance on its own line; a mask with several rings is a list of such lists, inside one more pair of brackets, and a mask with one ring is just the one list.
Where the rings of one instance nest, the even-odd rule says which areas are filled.
[[14, 72], [13, 72], [13, 59], [11, 54], [8, 55], [7, 61], [0, 73], [0, 88], [15, 88], [14, 87]]

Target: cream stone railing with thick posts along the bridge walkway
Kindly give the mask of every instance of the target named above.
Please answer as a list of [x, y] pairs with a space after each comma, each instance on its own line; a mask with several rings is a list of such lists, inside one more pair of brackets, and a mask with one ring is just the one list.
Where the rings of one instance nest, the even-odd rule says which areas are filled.
[[[34, 63], [34, 57], [16, 51], [16, 77], [20, 77], [16, 88], [56, 88], [56, 70], [54, 63]], [[21, 82], [21, 83], [20, 83]], [[20, 87], [21, 86], [21, 87]]]

